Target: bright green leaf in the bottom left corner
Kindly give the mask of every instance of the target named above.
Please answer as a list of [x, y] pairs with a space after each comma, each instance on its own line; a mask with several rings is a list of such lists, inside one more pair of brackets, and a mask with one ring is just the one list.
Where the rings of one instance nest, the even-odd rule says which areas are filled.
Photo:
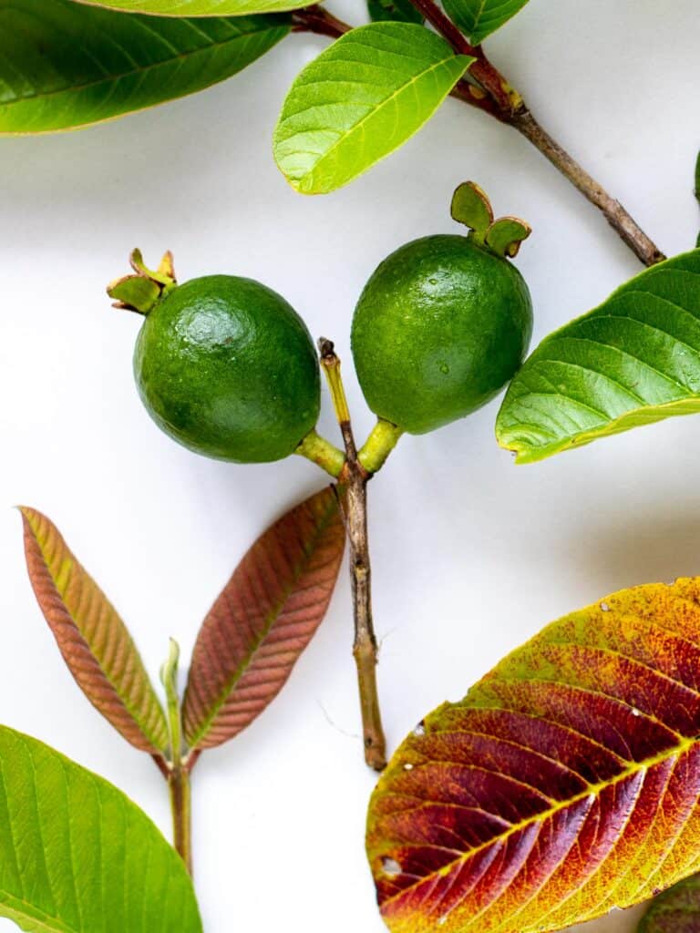
[[31, 933], [202, 933], [182, 860], [103, 778], [0, 727], [0, 916]]

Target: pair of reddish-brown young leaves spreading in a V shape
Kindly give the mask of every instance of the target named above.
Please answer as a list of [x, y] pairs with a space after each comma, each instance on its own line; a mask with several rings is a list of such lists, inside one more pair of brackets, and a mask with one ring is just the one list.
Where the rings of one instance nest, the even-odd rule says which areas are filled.
[[181, 709], [185, 747], [174, 748], [116, 609], [46, 516], [34, 508], [21, 515], [29, 577], [63, 661], [92, 705], [166, 773], [175, 758], [191, 768], [203, 749], [229, 741], [272, 702], [326, 614], [345, 542], [329, 487], [248, 550], [197, 636]]

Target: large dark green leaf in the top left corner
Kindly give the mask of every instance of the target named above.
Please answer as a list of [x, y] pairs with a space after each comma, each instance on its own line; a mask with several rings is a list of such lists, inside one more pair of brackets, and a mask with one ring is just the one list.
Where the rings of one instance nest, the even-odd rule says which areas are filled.
[[289, 28], [276, 16], [168, 20], [72, 0], [0, 4], [0, 132], [74, 129], [202, 91]]

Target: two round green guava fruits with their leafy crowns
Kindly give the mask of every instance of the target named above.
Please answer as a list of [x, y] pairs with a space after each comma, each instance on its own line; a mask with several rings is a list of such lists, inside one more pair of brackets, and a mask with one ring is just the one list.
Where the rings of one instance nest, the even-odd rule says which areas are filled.
[[[353, 318], [357, 377], [372, 411], [424, 434], [481, 408], [523, 361], [532, 332], [525, 281], [507, 257], [529, 229], [494, 221], [476, 185], [455, 191], [467, 236], [401, 246], [365, 286]], [[172, 257], [109, 287], [146, 313], [134, 354], [139, 392], [155, 422], [198, 453], [238, 463], [279, 460], [313, 431], [320, 408], [314, 343], [271, 288], [210, 275], [175, 284]]]

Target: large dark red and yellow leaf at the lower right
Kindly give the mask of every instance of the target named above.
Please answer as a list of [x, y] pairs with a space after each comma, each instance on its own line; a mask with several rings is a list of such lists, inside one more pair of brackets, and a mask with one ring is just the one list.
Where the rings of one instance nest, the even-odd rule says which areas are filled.
[[399, 747], [368, 820], [385, 922], [546, 933], [650, 898], [700, 868], [699, 795], [700, 578], [615, 593]]

